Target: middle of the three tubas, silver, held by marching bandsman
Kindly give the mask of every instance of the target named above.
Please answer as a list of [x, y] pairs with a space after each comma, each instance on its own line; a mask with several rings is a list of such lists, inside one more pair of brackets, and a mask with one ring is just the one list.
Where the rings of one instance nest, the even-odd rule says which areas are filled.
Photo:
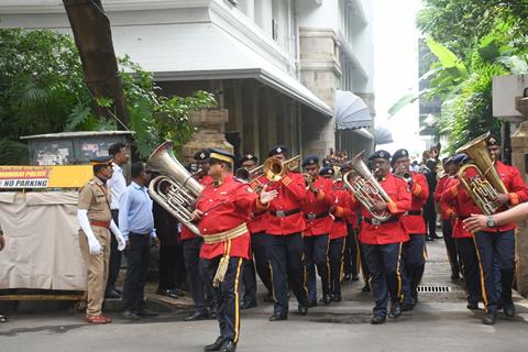
[[[374, 206], [375, 201], [392, 202], [387, 193], [380, 186], [369, 167], [363, 162], [363, 153], [355, 155], [350, 162], [352, 170], [343, 175], [344, 185], [352, 191], [358, 200], [365, 207], [374, 219], [380, 221], [388, 220], [392, 215], [388, 211], [377, 211]], [[349, 176], [355, 172], [356, 176], [349, 180]]]

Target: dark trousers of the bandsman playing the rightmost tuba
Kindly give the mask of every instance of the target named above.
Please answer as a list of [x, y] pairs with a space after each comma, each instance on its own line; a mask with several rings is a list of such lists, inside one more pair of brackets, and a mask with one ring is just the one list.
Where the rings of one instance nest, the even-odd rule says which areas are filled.
[[[512, 286], [515, 278], [515, 230], [504, 232], [476, 232], [475, 246], [479, 254], [482, 297], [487, 311], [496, 311], [497, 305], [512, 302]], [[496, 287], [496, 268], [501, 271], [501, 290]], [[501, 294], [499, 294], [501, 292]]]

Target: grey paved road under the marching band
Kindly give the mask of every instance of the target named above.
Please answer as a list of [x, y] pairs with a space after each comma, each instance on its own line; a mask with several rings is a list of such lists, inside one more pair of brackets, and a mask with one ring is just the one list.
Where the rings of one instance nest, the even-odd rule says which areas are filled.
[[[482, 310], [465, 309], [460, 285], [449, 279], [441, 241], [429, 244], [424, 285], [448, 286], [449, 293], [424, 294], [415, 311], [383, 326], [371, 326], [372, 302], [361, 283], [345, 283], [344, 301], [317, 307], [307, 317], [268, 322], [272, 307], [243, 311], [239, 351], [528, 351], [528, 301], [516, 298], [518, 316], [481, 323]], [[296, 307], [292, 302], [292, 307]], [[112, 314], [111, 314], [112, 316]], [[87, 326], [75, 312], [11, 315], [0, 324], [0, 351], [201, 351], [217, 337], [216, 321], [183, 322], [183, 314], [163, 314], [127, 322], [114, 314], [108, 326]]]

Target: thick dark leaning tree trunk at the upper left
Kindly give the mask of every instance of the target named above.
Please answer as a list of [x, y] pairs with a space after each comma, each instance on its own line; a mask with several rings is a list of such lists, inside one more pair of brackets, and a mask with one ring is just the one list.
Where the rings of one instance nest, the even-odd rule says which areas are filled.
[[[94, 99], [110, 98], [114, 111], [94, 102], [97, 117], [114, 119], [128, 125], [127, 101], [113, 52], [112, 33], [100, 0], [63, 0], [79, 50], [86, 85]], [[118, 122], [118, 128], [123, 129]]]

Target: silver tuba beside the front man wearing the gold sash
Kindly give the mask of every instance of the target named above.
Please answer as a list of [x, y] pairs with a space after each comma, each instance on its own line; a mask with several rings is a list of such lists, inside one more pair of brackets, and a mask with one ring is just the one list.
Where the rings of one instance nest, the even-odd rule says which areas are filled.
[[178, 162], [173, 154], [173, 143], [160, 145], [146, 162], [150, 168], [160, 172], [160, 176], [151, 180], [148, 194], [160, 206], [178, 219], [195, 234], [200, 235], [198, 228], [191, 223], [191, 213], [204, 186]]

